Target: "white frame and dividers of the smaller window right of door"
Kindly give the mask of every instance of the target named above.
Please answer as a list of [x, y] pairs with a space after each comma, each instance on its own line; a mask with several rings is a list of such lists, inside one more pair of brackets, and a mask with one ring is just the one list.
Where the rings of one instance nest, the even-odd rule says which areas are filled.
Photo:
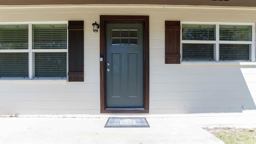
[[[216, 40], [182, 40], [182, 24], [211, 24], [216, 26]], [[220, 40], [220, 25], [237, 25], [237, 26], [252, 26], [252, 41], [221, 41]], [[224, 23], [224, 22], [181, 22], [180, 30], [180, 54], [181, 62], [255, 62], [255, 34], [256, 28], [254, 23]], [[215, 61], [186, 61], [182, 60], [182, 44], [215, 44], [214, 54]], [[220, 61], [219, 44], [250, 44], [250, 61]]]

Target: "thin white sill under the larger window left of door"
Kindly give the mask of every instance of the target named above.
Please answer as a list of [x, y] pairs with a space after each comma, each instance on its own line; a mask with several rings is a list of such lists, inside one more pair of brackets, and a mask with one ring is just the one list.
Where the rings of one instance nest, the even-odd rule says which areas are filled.
[[14, 83], [46, 83], [46, 82], [50, 82], [50, 83], [66, 83], [68, 82], [68, 80], [7, 80], [7, 79], [0, 79], [0, 83], [8, 83], [8, 82], [14, 82]]

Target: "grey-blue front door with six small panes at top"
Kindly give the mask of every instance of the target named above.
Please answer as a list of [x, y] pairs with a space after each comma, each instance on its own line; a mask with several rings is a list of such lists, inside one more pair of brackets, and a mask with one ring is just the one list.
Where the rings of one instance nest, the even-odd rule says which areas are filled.
[[143, 108], [143, 24], [106, 30], [106, 107]]

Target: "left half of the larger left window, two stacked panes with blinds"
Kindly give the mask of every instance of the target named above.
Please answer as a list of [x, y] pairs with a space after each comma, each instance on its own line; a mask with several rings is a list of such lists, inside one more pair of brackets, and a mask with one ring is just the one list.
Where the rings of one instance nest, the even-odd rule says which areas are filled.
[[0, 25], [0, 78], [28, 78], [28, 25]]

